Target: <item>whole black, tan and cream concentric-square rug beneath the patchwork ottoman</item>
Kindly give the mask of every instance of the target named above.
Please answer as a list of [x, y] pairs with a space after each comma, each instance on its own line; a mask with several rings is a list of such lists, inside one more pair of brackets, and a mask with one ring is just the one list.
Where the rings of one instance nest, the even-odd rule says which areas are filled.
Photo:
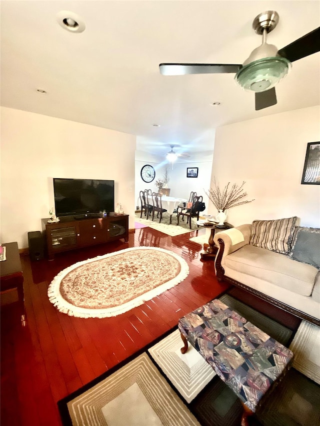
[[[287, 346], [292, 339], [291, 330], [228, 294], [220, 300], [282, 344]], [[317, 347], [310, 349], [310, 339], [319, 337], [316, 329], [301, 323], [290, 346], [297, 355], [294, 367], [300, 369], [307, 358], [313, 363]], [[190, 345], [182, 355], [182, 346], [178, 330], [171, 330], [59, 401], [63, 425], [238, 426], [242, 415], [240, 401]], [[252, 425], [318, 425], [320, 386], [304, 374], [291, 368], [275, 390], [267, 394]]]

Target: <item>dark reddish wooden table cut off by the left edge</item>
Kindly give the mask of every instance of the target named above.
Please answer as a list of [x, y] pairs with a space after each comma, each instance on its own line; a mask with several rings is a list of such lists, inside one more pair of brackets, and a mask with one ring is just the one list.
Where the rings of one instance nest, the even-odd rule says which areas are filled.
[[24, 294], [23, 294], [23, 274], [18, 249], [18, 243], [2, 244], [6, 249], [6, 260], [0, 262], [1, 284], [0, 291], [16, 288], [18, 292], [18, 302], [21, 312], [21, 322], [25, 322]]

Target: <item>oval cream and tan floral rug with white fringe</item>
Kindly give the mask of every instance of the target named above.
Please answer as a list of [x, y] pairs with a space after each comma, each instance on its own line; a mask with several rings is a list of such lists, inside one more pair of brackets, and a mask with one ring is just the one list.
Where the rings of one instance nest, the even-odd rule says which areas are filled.
[[133, 247], [69, 266], [52, 280], [48, 297], [73, 317], [114, 317], [175, 286], [188, 273], [185, 260], [171, 251]]

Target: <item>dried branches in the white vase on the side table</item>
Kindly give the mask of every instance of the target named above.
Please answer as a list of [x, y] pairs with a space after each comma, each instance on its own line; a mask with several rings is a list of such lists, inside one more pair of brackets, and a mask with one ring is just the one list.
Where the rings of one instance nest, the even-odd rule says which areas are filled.
[[221, 191], [219, 184], [216, 182], [215, 178], [213, 179], [213, 185], [208, 191], [204, 191], [205, 194], [209, 197], [209, 200], [212, 201], [214, 207], [217, 210], [229, 209], [231, 207], [239, 206], [240, 204], [250, 203], [253, 200], [243, 200], [247, 196], [246, 192], [243, 192], [243, 185], [245, 182], [242, 182], [242, 185], [238, 186], [236, 183], [230, 187], [230, 182], [223, 188]]

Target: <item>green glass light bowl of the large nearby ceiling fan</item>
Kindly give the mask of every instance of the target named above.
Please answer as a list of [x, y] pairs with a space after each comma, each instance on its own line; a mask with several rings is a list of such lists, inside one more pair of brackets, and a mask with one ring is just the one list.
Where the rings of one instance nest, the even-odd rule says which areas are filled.
[[274, 87], [290, 68], [291, 62], [281, 56], [267, 57], [244, 65], [234, 79], [244, 90], [263, 92]]

